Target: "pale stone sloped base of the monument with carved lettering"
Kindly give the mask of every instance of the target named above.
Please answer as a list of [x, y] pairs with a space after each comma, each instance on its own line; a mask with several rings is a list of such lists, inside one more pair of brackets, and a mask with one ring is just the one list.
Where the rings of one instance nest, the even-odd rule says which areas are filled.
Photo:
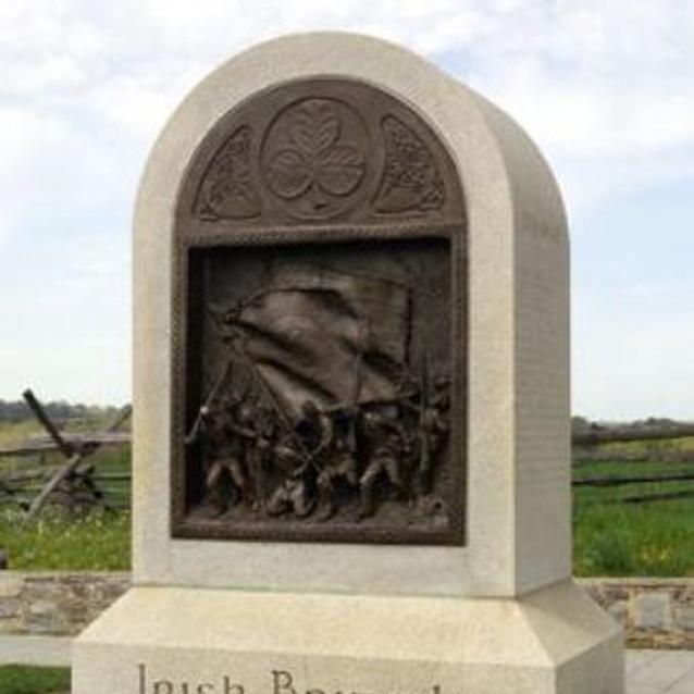
[[73, 694], [622, 694], [620, 628], [571, 581], [521, 599], [134, 587]]

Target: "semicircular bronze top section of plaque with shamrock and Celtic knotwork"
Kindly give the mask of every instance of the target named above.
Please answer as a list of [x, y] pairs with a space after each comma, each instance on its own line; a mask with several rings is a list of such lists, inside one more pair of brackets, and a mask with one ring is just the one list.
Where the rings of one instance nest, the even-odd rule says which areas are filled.
[[177, 215], [205, 234], [215, 222], [460, 223], [464, 211], [450, 156], [407, 104], [362, 82], [313, 78], [259, 92], [211, 128]]

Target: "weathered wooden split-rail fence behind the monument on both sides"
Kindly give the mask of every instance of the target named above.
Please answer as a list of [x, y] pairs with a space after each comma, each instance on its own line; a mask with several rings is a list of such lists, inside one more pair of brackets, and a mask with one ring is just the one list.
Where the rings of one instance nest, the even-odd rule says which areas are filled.
[[[26, 518], [40, 513], [50, 503], [70, 508], [102, 506], [120, 508], [129, 506], [131, 471], [100, 470], [95, 453], [103, 448], [126, 448], [131, 434], [120, 427], [131, 417], [131, 407], [124, 407], [109, 424], [97, 432], [67, 433], [51, 420], [46, 408], [30, 389], [23, 394], [36, 419], [46, 431], [15, 446], [0, 448], [2, 457], [27, 461], [21, 469], [3, 471], [0, 468], [0, 506], [14, 504], [22, 508]], [[660, 485], [666, 483], [694, 483], [694, 450], [671, 450], [659, 447], [658, 442], [694, 437], [694, 424], [677, 426], [592, 426], [574, 432], [574, 480], [575, 488], [618, 488], [633, 485]], [[606, 450], [604, 444], [616, 442], [654, 442], [646, 450]], [[55, 454], [62, 460], [55, 464]], [[51, 458], [50, 462], [47, 462]], [[29, 462], [29, 460], [32, 462]], [[692, 462], [691, 469], [677, 472], [648, 472], [637, 474], [577, 474], [585, 466], [599, 462]], [[125, 489], [125, 493], [124, 493]], [[602, 503], [641, 504], [654, 500], [678, 499], [694, 496], [694, 484], [684, 488], [652, 488], [643, 493], [639, 487], [633, 494], [618, 498], [597, 498]]]

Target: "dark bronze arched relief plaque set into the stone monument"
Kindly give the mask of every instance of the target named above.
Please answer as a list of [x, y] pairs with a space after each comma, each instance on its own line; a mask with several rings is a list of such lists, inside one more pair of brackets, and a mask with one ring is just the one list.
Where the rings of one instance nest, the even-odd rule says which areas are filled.
[[221, 119], [176, 212], [173, 535], [464, 544], [464, 259], [454, 163], [392, 96]]

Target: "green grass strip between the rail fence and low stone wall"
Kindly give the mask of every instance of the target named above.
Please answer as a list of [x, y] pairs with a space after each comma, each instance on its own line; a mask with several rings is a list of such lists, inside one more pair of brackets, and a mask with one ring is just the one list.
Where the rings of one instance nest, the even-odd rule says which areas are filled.
[[[605, 491], [574, 495], [577, 575], [694, 575], [694, 499], [605, 504], [592, 492]], [[127, 512], [76, 521], [50, 515], [29, 524], [0, 517], [12, 569], [128, 570], [129, 532]]]

